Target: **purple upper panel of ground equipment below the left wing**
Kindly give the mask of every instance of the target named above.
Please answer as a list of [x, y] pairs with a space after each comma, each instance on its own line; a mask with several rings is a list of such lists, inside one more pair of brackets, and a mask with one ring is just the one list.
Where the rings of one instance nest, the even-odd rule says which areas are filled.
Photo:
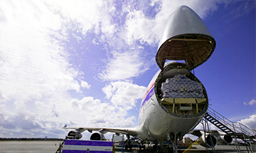
[[110, 146], [112, 147], [113, 142], [104, 141], [85, 141], [85, 140], [65, 140], [65, 145], [90, 145], [90, 146]]

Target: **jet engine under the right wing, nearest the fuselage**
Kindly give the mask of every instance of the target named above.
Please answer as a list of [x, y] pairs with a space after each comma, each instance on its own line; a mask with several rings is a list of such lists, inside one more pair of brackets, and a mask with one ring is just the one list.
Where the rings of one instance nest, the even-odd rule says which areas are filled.
[[208, 135], [202, 135], [199, 138], [198, 143], [200, 143], [200, 145], [203, 147], [215, 147], [215, 145], [217, 145], [218, 143], [218, 140], [214, 135], [208, 134]]

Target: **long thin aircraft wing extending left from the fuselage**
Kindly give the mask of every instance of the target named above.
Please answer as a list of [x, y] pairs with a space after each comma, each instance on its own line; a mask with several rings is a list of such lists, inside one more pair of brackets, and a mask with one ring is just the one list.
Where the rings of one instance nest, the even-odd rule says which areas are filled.
[[98, 131], [101, 132], [102, 134], [105, 134], [107, 132], [115, 132], [122, 133], [125, 135], [137, 136], [137, 128], [67, 128], [66, 126], [64, 126], [63, 129], [74, 129], [80, 133], [87, 130], [89, 132]]

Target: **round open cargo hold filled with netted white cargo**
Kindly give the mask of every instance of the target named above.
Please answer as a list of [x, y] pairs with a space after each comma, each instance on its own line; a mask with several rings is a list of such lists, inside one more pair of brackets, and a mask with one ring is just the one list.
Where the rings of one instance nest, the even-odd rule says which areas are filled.
[[201, 81], [184, 63], [166, 64], [155, 83], [156, 97], [161, 107], [181, 118], [190, 118], [207, 111], [208, 96]]

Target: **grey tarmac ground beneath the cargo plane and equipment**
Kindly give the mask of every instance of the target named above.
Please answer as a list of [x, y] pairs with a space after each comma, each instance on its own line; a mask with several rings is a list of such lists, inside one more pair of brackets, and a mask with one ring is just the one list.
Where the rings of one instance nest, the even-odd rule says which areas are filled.
[[[61, 141], [4, 141], [0, 142], [0, 153], [45, 153], [45, 152], [56, 152], [60, 145]], [[240, 146], [241, 152], [247, 152], [245, 146]], [[120, 148], [116, 148], [115, 151], [117, 153], [121, 153], [122, 150]], [[126, 152], [136, 152], [136, 153], [156, 153], [151, 147], [147, 147], [146, 149], [139, 150], [139, 149], [132, 149]], [[164, 152], [164, 149], [159, 151]], [[207, 152], [205, 147], [201, 145], [193, 145], [188, 149], [178, 149], [178, 152]], [[213, 152], [212, 149], [209, 149], [209, 152]], [[216, 153], [223, 153], [223, 152], [230, 152], [234, 153], [237, 152], [235, 145], [217, 145], [215, 147]]]

